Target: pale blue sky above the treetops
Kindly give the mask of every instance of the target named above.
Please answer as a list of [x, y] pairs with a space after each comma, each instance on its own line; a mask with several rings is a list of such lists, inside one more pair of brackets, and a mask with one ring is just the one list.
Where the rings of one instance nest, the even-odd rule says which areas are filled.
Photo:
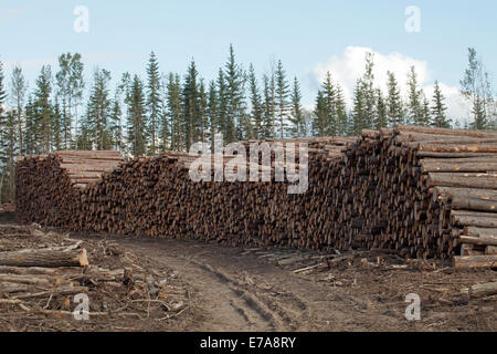
[[[73, 30], [76, 6], [89, 10], [88, 33]], [[419, 33], [404, 29], [409, 6], [421, 11]], [[163, 72], [184, 73], [194, 58], [210, 80], [233, 43], [239, 61], [253, 63], [261, 74], [271, 69], [271, 60], [281, 59], [288, 76], [300, 79], [309, 104], [322, 71], [327, 65], [334, 71], [347, 48], [419, 61], [425, 86], [437, 79], [456, 87], [468, 46], [494, 74], [496, 12], [497, 2], [490, 0], [2, 0], [0, 60], [8, 75], [13, 63], [21, 63], [32, 86], [42, 63], [56, 63], [63, 52], [82, 53], [88, 76], [99, 65], [117, 79], [125, 71], [144, 74], [154, 50]], [[359, 75], [362, 65], [356, 66]]]

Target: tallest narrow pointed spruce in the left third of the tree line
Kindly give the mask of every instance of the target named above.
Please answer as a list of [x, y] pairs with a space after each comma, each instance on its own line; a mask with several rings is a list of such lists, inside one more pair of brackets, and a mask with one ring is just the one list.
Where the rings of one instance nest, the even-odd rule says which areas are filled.
[[154, 52], [150, 53], [150, 59], [147, 66], [148, 84], [147, 84], [147, 107], [149, 112], [148, 117], [148, 136], [150, 138], [150, 145], [148, 147], [148, 154], [154, 156], [158, 152], [158, 138], [160, 131], [160, 74], [159, 63]]

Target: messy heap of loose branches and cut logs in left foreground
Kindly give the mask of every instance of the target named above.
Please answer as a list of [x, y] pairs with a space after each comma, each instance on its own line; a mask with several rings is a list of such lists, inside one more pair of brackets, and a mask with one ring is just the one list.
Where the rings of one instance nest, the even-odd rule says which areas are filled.
[[[148, 329], [154, 321], [167, 327], [165, 320], [189, 305], [183, 293], [177, 274], [149, 268], [112, 242], [73, 240], [35, 223], [0, 225], [0, 330], [66, 331], [61, 319], [75, 314], [87, 315], [91, 322], [77, 324], [93, 330], [112, 330], [129, 319]], [[76, 311], [83, 298], [75, 296], [82, 295], [88, 306]]]

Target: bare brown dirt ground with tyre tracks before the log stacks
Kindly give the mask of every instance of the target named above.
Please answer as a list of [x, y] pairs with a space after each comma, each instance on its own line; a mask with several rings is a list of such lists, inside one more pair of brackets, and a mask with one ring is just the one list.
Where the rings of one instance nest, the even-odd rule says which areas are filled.
[[[0, 223], [9, 220], [0, 217]], [[459, 271], [442, 261], [406, 262], [381, 251], [339, 254], [108, 235], [71, 238], [89, 246], [107, 242], [134, 254], [144, 272], [149, 268], [169, 278], [173, 274], [184, 308], [166, 321], [165, 315], [129, 317], [126, 323], [107, 317], [77, 327], [65, 320], [72, 331], [497, 330], [497, 296], [469, 300], [464, 292], [473, 284], [496, 281], [491, 270]], [[106, 257], [98, 262], [109, 266]], [[410, 293], [421, 299], [420, 321], [405, 317]], [[23, 330], [19, 323], [14, 329]]]

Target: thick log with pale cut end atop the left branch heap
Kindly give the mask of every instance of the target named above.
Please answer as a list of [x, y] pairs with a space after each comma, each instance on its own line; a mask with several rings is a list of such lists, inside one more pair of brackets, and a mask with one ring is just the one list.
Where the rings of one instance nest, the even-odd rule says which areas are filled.
[[85, 249], [70, 251], [22, 250], [0, 252], [0, 266], [12, 267], [85, 267], [88, 259]]

